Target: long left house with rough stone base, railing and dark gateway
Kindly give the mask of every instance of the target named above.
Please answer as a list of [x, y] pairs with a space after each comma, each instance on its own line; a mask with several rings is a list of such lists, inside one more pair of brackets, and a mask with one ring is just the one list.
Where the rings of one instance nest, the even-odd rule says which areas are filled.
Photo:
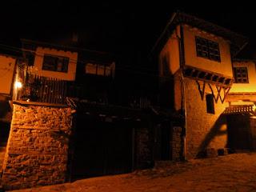
[[153, 166], [152, 118], [158, 115], [146, 98], [115, 102], [113, 58], [25, 39], [22, 46], [26, 66], [15, 68], [20, 86], [10, 102], [5, 190]]

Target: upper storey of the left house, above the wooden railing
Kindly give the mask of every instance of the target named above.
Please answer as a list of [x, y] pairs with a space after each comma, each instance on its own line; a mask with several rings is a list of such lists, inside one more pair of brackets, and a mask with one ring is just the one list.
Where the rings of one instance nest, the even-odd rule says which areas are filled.
[[[102, 59], [97, 51], [82, 50], [73, 46], [61, 46], [46, 42], [22, 39], [23, 52], [34, 74], [47, 78], [76, 81], [86, 74], [114, 78], [114, 60]], [[94, 55], [93, 55], [94, 54]]]

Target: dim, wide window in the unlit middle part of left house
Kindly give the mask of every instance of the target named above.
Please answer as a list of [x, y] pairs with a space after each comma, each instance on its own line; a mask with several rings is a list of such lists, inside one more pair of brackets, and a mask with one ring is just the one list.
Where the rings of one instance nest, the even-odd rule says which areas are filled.
[[95, 63], [87, 63], [86, 64], [86, 74], [97, 74], [101, 76], [111, 76], [112, 70], [111, 66], [99, 65]]

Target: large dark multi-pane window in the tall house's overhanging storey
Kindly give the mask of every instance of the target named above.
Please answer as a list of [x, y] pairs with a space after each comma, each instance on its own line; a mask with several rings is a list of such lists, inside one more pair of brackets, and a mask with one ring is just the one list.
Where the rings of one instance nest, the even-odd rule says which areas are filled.
[[213, 42], [206, 38], [195, 37], [195, 43], [198, 57], [221, 62], [218, 42]]

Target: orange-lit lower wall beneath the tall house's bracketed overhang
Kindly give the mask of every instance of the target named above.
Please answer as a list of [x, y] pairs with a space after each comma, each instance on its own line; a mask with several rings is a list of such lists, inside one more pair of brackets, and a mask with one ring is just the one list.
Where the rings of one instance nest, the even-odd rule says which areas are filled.
[[[222, 103], [220, 98], [214, 102], [214, 114], [208, 114], [206, 108], [206, 94], [211, 94], [210, 86], [206, 83], [206, 90], [201, 98], [198, 85], [194, 79], [185, 78], [186, 101], [186, 158], [196, 158], [205, 151], [218, 151], [226, 148], [227, 126], [226, 117], [222, 112], [228, 103]], [[202, 83], [200, 82], [202, 89]], [[214, 95], [217, 89], [211, 84]], [[223, 92], [221, 94], [223, 98]], [[217, 153], [217, 152], [216, 152]]]

